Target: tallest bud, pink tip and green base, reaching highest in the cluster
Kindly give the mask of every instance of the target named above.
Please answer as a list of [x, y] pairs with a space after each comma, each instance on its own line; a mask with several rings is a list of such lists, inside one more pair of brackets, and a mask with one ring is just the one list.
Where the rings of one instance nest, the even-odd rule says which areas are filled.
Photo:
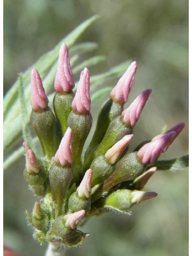
[[54, 112], [59, 123], [62, 136], [67, 130], [67, 118], [72, 110], [74, 94], [72, 89], [75, 86], [73, 73], [69, 61], [69, 52], [66, 44], [62, 44], [58, 58], [54, 87], [56, 94], [53, 100]]

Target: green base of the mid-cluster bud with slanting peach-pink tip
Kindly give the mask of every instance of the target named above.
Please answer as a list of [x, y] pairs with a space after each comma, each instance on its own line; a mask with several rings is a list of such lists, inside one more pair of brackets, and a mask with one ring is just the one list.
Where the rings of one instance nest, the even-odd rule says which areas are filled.
[[92, 169], [92, 182], [91, 186], [94, 186], [98, 182], [102, 182], [114, 171], [114, 164], [109, 164], [105, 158], [105, 155], [95, 158], [90, 165]]

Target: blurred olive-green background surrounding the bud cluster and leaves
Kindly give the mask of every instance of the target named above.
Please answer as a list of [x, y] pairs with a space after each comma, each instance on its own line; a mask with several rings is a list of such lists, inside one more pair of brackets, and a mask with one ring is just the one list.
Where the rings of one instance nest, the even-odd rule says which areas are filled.
[[[106, 61], [90, 68], [98, 74], [128, 59], [138, 69], [129, 104], [147, 88], [153, 90], [134, 130], [130, 151], [159, 134], [164, 125], [186, 126], [160, 159], [188, 153], [188, 1], [186, 0], [6, 0], [4, 1], [4, 94], [18, 73], [29, 68], [78, 24], [100, 14], [78, 42], [98, 42], [90, 53]], [[88, 56], [88, 54], [87, 54]], [[82, 56], [84, 60], [86, 56]], [[80, 74], [79, 74], [80, 75]], [[78, 80], [79, 76], [74, 80]], [[113, 80], [110, 86], [115, 86]], [[105, 95], [92, 104], [96, 116]], [[21, 144], [22, 142], [20, 142]], [[18, 145], [15, 146], [15, 148]], [[36, 197], [23, 178], [24, 156], [4, 172], [4, 244], [23, 256], [43, 256], [26, 225], [25, 210]], [[91, 236], [66, 255], [187, 256], [188, 169], [157, 172], [145, 191], [158, 197], [134, 206], [132, 216], [114, 212], [93, 217], [82, 231]]]

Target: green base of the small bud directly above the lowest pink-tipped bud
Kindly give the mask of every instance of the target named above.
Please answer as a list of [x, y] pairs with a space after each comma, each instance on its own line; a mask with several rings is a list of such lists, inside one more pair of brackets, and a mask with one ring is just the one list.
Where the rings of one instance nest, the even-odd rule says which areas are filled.
[[80, 210], [85, 210], [86, 212], [88, 212], [90, 210], [90, 207], [91, 199], [80, 198], [78, 196], [78, 192], [74, 192], [69, 198], [68, 208], [71, 212], [78, 212]]

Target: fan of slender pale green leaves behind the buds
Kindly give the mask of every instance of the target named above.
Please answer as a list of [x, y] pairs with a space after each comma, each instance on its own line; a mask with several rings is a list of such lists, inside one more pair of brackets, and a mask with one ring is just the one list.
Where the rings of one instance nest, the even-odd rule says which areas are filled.
[[[82, 66], [95, 65], [105, 59], [104, 56], [95, 56], [75, 66], [75, 63], [78, 60], [80, 53], [94, 50], [98, 46], [96, 42], [84, 42], [84, 43], [80, 43], [75, 46], [72, 46], [75, 40], [80, 36], [80, 34], [82, 34], [82, 32], [84, 32], [84, 30], [88, 26], [90, 26], [92, 22], [94, 22], [97, 18], [98, 18], [97, 15], [93, 16], [90, 19], [83, 22], [80, 26], [75, 28], [70, 34], [68, 34], [68, 36], [62, 39], [52, 51], [44, 54], [32, 67], [30, 67], [28, 70], [26, 70], [26, 72], [22, 74], [22, 87], [20, 87], [19, 91], [17, 91], [17, 88], [20, 85], [19, 83], [20, 80], [18, 78], [18, 80], [14, 83], [12, 88], [6, 94], [4, 98], [4, 150], [9, 149], [10, 146], [12, 146], [15, 142], [17, 142], [21, 138], [22, 130], [24, 132], [23, 134], [25, 134], [24, 136], [28, 138], [25, 140], [30, 142], [30, 144], [32, 145], [32, 139], [30, 139], [30, 135], [29, 135], [30, 131], [28, 129], [28, 124], [29, 124], [28, 113], [30, 113], [30, 110], [31, 110], [30, 72], [32, 68], [34, 67], [38, 68], [42, 77], [42, 82], [46, 90], [46, 93], [50, 93], [51, 88], [53, 87], [53, 84], [54, 84], [54, 78], [55, 78], [57, 64], [58, 64], [57, 62], [58, 52], [59, 52], [58, 49], [60, 48], [60, 45], [62, 44], [63, 41], [68, 44], [69, 52], [71, 54], [75, 54], [74, 56], [72, 56], [70, 60], [72, 70], [74, 73], [79, 72]], [[119, 64], [111, 68], [108, 72], [105, 72], [103, 74], [91, 76], [91, 81], [90, 81], [91, 95], [90, 96], [92, 98], [92, 102], [94, 102], [94, 100], [100, 97], [101, 94], [104, 94], [111, 90], [110, 88], [99, 89], [99, 87], [105, 82], [108, 82], [109, 80], [111, 80], [112, 78], [116, 76], [121, 76], [125, 72], [128, 64], [130, 64], [130, 61], [124, 62], [123, 64]], [[97, 91], [97, 88], [98, 88], [98, 91]], [[22, 92], [21, 90], [24, 90], [24, 92], [21, 93]], [[18, 92], [20, 93], [21, 97], [22, 95], [24, 96], [25, 94], [25, 104], [24, 102], [19, 100]], [[48, 95], [50, 100], [50, 106], [52, 106], [53, 96], [54, 94]], [[22, 114], [20, 113], [21, 103], [23, 106], [22, 109], [24, 111], [22, 112]], [[23, 152], [24, 152], [23, 150], [18, 149], [16, 152], [8, 156], [4, 162], [4, 167], [7, 168], [10, 164], [12, 164], [15, 160], [17, 160], [23, 154]]]

